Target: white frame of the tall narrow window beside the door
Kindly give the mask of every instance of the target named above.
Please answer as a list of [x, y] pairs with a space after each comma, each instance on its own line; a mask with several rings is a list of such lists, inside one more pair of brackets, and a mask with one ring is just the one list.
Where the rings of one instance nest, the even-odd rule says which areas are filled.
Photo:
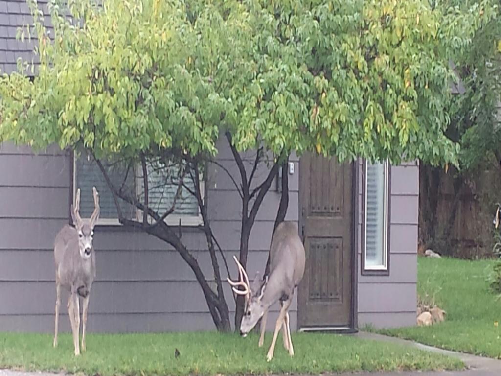
[[387, 272], [388, 271], [388, 258], [389, 258], [389, 201], [390, 201], [390, 190], [389, 190], [389, 175], [390, 175], [390, 164], [388, 160], [383, 162], [383, 171], [384, 171], [384, 197], [383, 197], [383, 263], [382, 265], [368, 265], [367, 264], [367, 170], [368, 170], [369, 162], [364, 162], [364, 225], [362, 228], [363, 238], [364, 238], [364, 271], [368, 272]]

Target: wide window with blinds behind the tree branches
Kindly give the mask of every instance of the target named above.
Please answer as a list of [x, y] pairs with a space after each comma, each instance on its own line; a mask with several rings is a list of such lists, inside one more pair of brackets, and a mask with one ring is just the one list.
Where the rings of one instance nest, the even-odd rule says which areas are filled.
[[[104, 164], [104, 163], [103, 163]], [[129, 195], [139, 198], [144, 202], [144, 187], [142, 168], [134, 166], [129, 168], [124, 163], [104, 164], [108, 170], [108, 175], [115, 186], [123, 186]], [[162, 166], [160, 163], [150, 163], [148, 168], [148, 198], [149, 207], [160, 216], [172, 207], [174, 197], [177, 192], [179, 182], [179, 168], [175, 165]], [[98, 224], [118, 224], [118, 212], [113, 200], [113, 194], [108, 188], [99, 166], [92, 158], [81, 155], [75, 158], [74, 168], [75, 192], [80, 188], [80, 215], [82, 218], [89, 218], [94, 211], [94, 199], [92, 197], [92, 186], [95, 185], [99, 192], [99, 204], [101, 213]], [[194, 182], [189, 174], [185, 175], [184, 184], [189, 190], [194, 190]], [[121, 210], [126, 218], [137, 217], [136, 209], [122, 200], [119, 200]], [[174, 212], [170, 219], [178, 223], [179, 219], [198, 219], [199, 210], [196, 198], [187, 189], [181, 191], [176, 200]], [[167, 218], [169, 220], [169, 218]], [[190, 221], [188, 221], [190, 222]], [[192, 221], [191, 221], [192, 222]]]

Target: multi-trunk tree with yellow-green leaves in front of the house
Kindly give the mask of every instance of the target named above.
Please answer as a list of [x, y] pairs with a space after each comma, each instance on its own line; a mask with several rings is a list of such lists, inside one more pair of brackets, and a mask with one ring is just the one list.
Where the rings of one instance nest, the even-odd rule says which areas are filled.
[[[242, 204], [243, 265], [258, 210], [293, 151], [340, 161], [457, 163], [458, 146], [445, 131], [453, 79], [448, 59], [468, 39], [456, 27], [465, 17], [460, 10], [443, 12], [423, 0], [96, 3], [53, 6], [49, 35], [30, 0], [40, 65], [32, 81], [22, 67], [0, 79], [0, 140], [91, 153], [119, 212], [121, 201], [143, 212], [138, 220], [119, 214], [120, 222], [179, 252], [219, 330], [230, 328], [228, 308], [218, 243], [198, 188], [199, 172], [217, 163], [220, 136], [240, 174], [232, 178]], [[471, 13], [472, 28], [492, 13], [488, 7]], [[241, 154], [248, 150], [258, 150], [249, 173]], [[115, 159], [141, 166], [141, 197], [107, 178], [105, 162]], [[267, 160], [269, 173], [257, 183], [258, 164]], [[178, 172], [169, 178], [178, 193], [197, 198], [215, 291], [175, 228], [163, 221], [172, 208], [161, 213], [149, 203], [152, 163], [175, 163]], [[286, 187], [287, 173], [283, 179]], [[287, 200], [284, 189], [277, 222]], [[236, 325], [242, 314], [237, 303]]]

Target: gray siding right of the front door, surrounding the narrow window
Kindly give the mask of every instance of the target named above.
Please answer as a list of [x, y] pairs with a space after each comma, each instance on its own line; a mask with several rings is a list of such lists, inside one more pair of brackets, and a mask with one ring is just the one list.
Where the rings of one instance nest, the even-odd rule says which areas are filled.
[[[359, 179], [362, 168], [359, 165]], [[377, 327], [414, 325], [416, 318], [417, 225], [419, 169], [416, 162], [391, 167], [390, 273], [387, 276], [358, 273], [358, 324]], [[362, 208], [362, 184], [358, 192]], [[357, 239], [359, 268], [362, 255], [362, 211]]]

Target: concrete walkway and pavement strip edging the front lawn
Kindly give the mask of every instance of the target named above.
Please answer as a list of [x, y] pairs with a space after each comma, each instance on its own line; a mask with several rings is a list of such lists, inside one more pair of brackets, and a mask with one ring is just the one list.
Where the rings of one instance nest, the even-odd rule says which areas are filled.
[[[392, 342], [403, 346], [416, 347], [421, 350], [436, 352], [439, 354], [455, 356], [461, 359], [468, 369], [461, 371], [406, 371], [406, 372], [358, 372], [358, 373], [337, 373], [336, 375], [329, 375], [328, 373], [322, 376], [501, 376], [501, 360], [486, 358], [482, 356], [464, 354], [462, 352], [454, 352], [443, 350], [441, 348], [431, 347], [408, 341], [405, 339], [387, 337], [380, 334], [373, 334], [367, 332], [359, 332], [352, 334], [355, 337], [362, 339], [372, 339], [376, 341]], [[0, 376], [65, 376], [64, 373], [50, 373], [50, 372], [25, 372], [15, 371], [10, 369], [0, 369]], [[276, 375], [277, 376], [277, 375]], [[300, 375], [289, 375], [300, 376]]]

